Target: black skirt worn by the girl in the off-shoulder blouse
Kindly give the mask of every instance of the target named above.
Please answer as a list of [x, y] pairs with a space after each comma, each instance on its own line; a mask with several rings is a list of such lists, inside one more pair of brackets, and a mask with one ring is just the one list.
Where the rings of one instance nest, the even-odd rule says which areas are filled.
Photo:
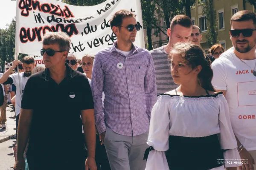
[[217, 134], [206, 137], [169, 136], [169, 150], [166, 159], [170, 169], [210, 170], [223, 165]]

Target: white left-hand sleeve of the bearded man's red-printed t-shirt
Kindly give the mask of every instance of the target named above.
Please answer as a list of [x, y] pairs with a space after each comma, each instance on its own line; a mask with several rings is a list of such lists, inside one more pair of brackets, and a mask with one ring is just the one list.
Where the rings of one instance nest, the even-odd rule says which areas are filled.
[[212, 85], [216, 90], [227, 90], [227, 83], [226, 83], [226, 70], [224, 62], [221, 59], [216, 59], [212, 62], [212, 71], [213, 71], [213, 78], [212, 78]]

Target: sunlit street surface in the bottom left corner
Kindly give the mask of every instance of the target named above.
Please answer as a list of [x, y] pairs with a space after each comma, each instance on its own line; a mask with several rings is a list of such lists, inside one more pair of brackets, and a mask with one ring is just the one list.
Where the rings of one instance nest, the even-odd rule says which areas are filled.
[[0, 143], [0, 170], [13, 170], [15, 158], [12, 148], [16, 144], [16, 140], [11, 139]]

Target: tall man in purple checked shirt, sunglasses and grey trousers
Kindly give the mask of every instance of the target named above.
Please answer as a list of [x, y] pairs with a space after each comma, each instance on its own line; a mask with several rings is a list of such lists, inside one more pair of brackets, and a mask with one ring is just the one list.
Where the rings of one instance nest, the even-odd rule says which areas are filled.
[[96, 127], [111, 170], [145, 170], [151, 109], [157, 100], [154, 63], [148, 50], [133, 44], [140, 30], [133, 13], [117, 11], [110, 25], [117, 41], [99, 51], [93, 64]]

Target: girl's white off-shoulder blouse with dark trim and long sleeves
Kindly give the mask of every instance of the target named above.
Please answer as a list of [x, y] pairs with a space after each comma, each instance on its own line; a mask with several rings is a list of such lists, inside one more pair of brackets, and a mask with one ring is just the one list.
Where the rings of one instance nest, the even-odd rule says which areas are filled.
[[[229, 149], [224, 152], [224, 159], [240, 161], [228, 104], [222, 93], [195, 97], [169, 94], [158, 96], [151, 112], [147, 142], [154, 150], [148, 155], [146, 170], [169, 170], [165, 151], [169, 149], [170, 135], [204, 137], [217, 133], [220, 133], [221, 149]], [[236, 167], [241, 164], [226, 162], [224, 166]], [[212, 170], [224, 170], [224, 166]]]

